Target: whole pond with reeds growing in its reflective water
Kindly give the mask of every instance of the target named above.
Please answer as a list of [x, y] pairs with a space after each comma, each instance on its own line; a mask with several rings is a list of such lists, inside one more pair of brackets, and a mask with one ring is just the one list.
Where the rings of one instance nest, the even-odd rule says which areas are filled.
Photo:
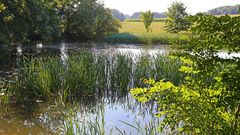
[[[182, 63], [168, 56], [172, 51], [169, 46], [97, 43], [2, 46], [0, 86], [13, 85], [13, 94], [20, 96], [0, 105], [0, 134], [169, 133], [156, 130], [161, 119], [155, 117], [154, 101], [141, 104], [129, 91], [145, 86], [141, 80], [148, 78], [180, 84]], [[3, 87], [0, 97], [5, 95]], [[29, 100], [34, 102], [25, 103]]]

